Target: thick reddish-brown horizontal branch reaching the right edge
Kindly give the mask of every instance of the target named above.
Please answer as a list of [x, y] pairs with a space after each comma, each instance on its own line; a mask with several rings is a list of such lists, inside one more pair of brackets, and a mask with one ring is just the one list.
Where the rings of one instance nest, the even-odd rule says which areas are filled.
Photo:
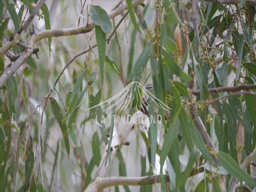
[[[232, 87], [210, 88], [208, 89], [208, 91], [210, 93], [219, 93], [219, 92], [236, 92], [236, 91], [250, 90], [250, 89], [256, 89], [256, 84], [241, 84], [241, 85], [232, 86]], [[199, 96], [200, 90], [191, 90], [190, 93], [192, 93], [195, 96]]]

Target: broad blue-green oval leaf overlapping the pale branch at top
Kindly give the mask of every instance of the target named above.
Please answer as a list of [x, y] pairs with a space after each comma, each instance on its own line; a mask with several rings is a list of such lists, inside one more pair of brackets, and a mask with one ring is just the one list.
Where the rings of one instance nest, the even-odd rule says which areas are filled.
[[93, 23], [100, 26], [104, 33], [109, 33], [111, 31], [112, 25], [110, 18], [104, 9], [102, 9], [100, 6], [93, 5], [90, 13]]

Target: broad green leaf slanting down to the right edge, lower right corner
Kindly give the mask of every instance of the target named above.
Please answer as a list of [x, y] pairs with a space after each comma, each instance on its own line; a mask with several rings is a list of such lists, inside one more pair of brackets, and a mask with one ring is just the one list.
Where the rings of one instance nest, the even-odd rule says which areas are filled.
[[220, 164], [225, 168], [233, 177], [245, 181], [249, 185], [256, 186], [256, 181], [235, 162], [235, 160], [228, 154], [219, 151], [218, 153]]

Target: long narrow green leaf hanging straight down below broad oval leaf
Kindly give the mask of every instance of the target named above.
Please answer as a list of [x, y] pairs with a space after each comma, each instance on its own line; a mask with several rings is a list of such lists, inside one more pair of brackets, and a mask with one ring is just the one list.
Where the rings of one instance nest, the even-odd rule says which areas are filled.
[[101, 84], [104, 80], [104, 60], [106, 53], [106, 33], [101, 30], [101, 28], [96, 25], [95, 27], [96, 40], [98, 44], [98, 60], [99, 60], [99, 70], [101, 76]]

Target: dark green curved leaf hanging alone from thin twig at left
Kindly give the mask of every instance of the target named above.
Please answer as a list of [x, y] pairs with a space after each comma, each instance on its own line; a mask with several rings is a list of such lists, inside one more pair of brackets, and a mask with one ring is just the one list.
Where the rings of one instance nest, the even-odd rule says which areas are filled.
[[69, 137], [68, 137], [66, 123], [63, 121], [63, 114], [62, 114], [61, 108], [60, 108], [59, 104], [57, 103], [57, 101], [53, 97], [49, 97], [49, 100], [50, 100], [52, 113], [60, 125], [61, 132], [63, 134], [64, 143], [66, 146], [66, 150], [67, 150], [67, 153], [69, 156], [69, 151], [70, 151]]

